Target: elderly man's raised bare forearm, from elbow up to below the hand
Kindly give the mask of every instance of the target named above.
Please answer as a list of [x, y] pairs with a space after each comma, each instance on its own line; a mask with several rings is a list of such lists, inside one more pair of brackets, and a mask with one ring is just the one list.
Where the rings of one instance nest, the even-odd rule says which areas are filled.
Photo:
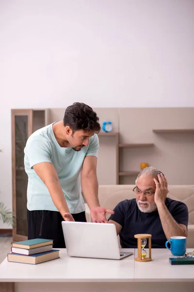
[[187, 226], [178, 224], [164, 203], [157, 204], [157, 207], [166, 238], [169, 240], [172, 236], [187, 237]]

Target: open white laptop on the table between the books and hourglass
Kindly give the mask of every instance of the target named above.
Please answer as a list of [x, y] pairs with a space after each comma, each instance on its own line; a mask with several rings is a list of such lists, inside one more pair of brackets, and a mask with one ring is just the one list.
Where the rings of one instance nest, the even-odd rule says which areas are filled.
[[121, 259], [133, 254], [119, 252], [114, 224], [62, 221], [62, 227], [68, 256]]

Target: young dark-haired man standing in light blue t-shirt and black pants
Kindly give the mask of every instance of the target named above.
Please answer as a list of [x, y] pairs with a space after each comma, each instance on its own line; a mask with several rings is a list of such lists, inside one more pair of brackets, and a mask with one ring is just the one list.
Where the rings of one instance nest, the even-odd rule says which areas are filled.
[[107, 222], [98, 201], [96, 112], [83, 103], [67, 107], [63, 121], [35, 131], [24, 149], [28, 175], [28, 239], [48, 238], [64, 248], [62, 220], [86, 221], [81, 187], [93, 222]]

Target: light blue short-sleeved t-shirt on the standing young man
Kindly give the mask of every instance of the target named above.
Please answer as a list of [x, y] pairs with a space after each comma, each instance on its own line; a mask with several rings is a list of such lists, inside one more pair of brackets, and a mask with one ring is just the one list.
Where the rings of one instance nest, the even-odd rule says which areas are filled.
[[99, 148], [97, 134], [89, 138], [89, 145], [75, 151], [72, 147], [61, 147], [52, 125], [35, 131], [24, 149], [24, 165], [28, 175], [27, 208], [33, 210], [58, 211], [45, 183], [33, 170], [33, 165], [50, 162], [54, 165], [65, 195], [70, 213], [85, 211], [81, 195], [80, 172], [85, 156], [96, 156]]

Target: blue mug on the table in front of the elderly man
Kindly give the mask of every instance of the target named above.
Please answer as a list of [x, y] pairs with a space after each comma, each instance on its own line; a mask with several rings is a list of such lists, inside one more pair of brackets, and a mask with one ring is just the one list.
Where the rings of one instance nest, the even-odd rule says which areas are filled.
[[[174, 256], [183, 256], [186, 253], [186, 237], [183, 236], [173, 236], [170, 240], [167, 240], [165, 246], [171, 251]], [[170, 243], [170, 247], [168, 247]]]

